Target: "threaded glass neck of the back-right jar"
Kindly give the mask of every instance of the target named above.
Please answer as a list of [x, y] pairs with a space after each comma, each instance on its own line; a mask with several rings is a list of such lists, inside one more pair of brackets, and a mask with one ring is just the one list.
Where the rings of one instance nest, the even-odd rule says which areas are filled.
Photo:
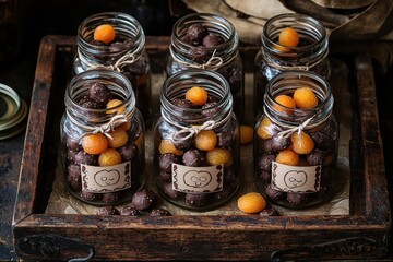
[[[283, 28], [297, 31], [298, 47], [285, 47], [278, 44]], [[282, 14], [269, 20], [263, 26], [261, 51], [273, 66], [284, 70], [309, 70], [329, 55], [329, 37], [325, 27], [317, 20], [302, 14]]]

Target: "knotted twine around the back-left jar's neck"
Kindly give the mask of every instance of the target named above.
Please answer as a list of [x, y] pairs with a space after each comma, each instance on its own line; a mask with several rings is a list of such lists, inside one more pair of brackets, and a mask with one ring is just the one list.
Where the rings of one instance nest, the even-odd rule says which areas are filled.
[[[140, 55], [138, 57], [134, 56], [136, 52], [140, 52]], [[117, 72], [121, 72], [121, 69], [124, 66], [132, 64], [135, 61], [138, 61], [142, 57], [142, 53], [143, 53], [143, 51], [139, 51], [139, 49], [133, 50], [133, 51], [128, 51], [122, 57], [120, 57], [115, 63], [104, 66], [104, 64], [100, 64], [100, 63], [95, 63], [95, 62], [88, 61], [81, 53], [80, 49], [78, 48], [79, 59], [81, 60], [81, 62], [83, 64], [86, 64], [88, 67], [88, 69], [107, 69], [107, 70], [111, 70], [111, 71], [117, 71]]]

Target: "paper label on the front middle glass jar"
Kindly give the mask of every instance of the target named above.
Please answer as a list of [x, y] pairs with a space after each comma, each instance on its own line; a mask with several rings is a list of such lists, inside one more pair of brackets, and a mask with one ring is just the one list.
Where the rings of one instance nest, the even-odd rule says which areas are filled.
[[172, 164], [172, 189], [180, 192], [212, 193], [223, 190], [224, 165], [189, 167]]

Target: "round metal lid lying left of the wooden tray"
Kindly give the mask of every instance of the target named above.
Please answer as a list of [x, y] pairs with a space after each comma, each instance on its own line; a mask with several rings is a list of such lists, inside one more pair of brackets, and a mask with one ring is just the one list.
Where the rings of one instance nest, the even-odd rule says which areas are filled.
[[0, 140], [9, 139], [25, 128], [27, 105], [14, 90], [0, 83]]

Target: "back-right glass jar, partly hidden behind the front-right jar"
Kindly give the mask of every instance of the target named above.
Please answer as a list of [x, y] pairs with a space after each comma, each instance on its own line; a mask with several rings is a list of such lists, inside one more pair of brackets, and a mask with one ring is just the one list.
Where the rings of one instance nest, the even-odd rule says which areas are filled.
[[[298, 33], [297, 47], [278, 44], [279, 33], [286, 27]], [[288, 70], [305, 70], [329, 79], [329, 38], [325, 27], [319, 21], [298, 13], [276, 15], [263, 26], [261, 40], [262, 46], [255, 57], [255, 115], [262, 111], [266, 84], [276, 74]]]

